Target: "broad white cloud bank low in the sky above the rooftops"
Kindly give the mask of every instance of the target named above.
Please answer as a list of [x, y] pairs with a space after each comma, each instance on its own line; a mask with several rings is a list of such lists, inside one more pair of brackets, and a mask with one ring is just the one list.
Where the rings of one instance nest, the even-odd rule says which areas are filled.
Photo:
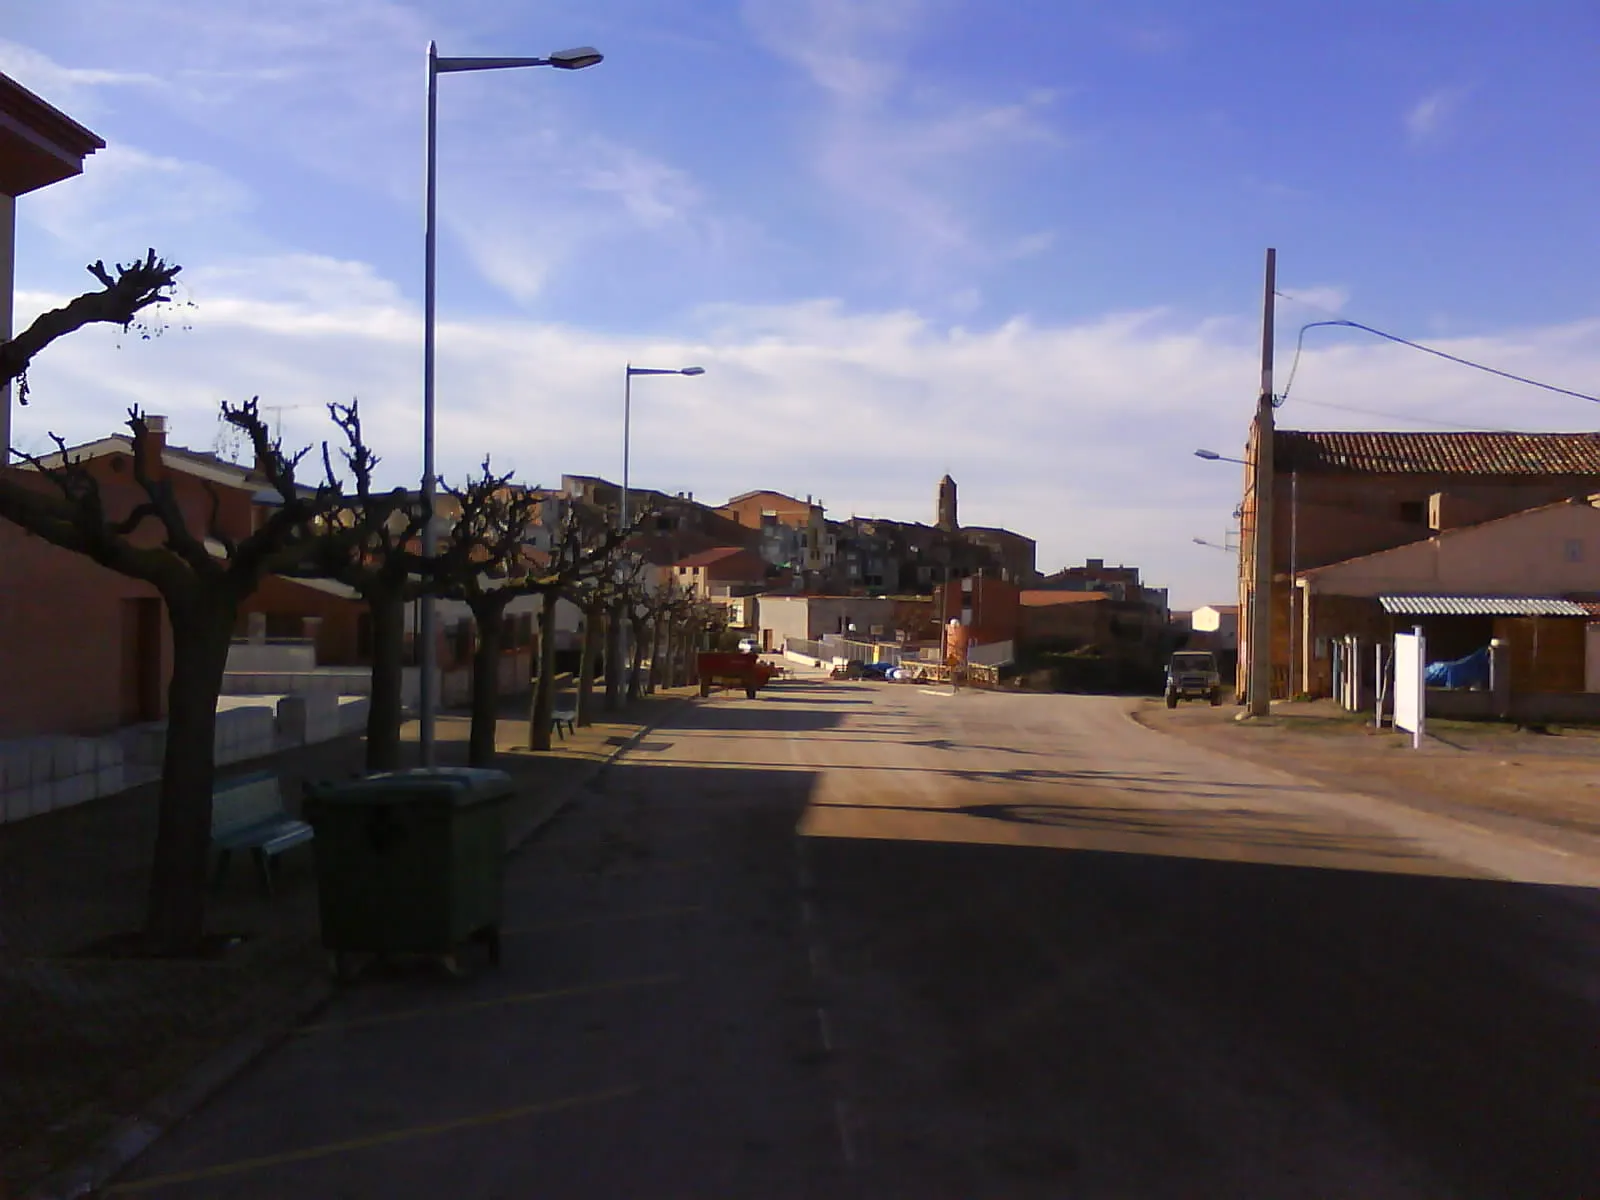
[[[104, 435], [130, 403], [210, 446], [222, 398], [285, 405], [285, 438], [328, 434], [320, 406], [360, 397], [387, 478], [418, 474], [421, 322], [368, 266], [312, 256], [195, 272], [194, 328], [152, 342], [94, 330], [46, 350], [35, 402], [16, 413], [27, 450], [45, 432]], [[53, 302], [21, 294], [19, 318]], [[54, 298], [59, 299], [59, 298]], [[968, 523], [1035, 538], [1040, 565], [1138, 563], [1179, 606], [1227, 600], [1234, 565], [1192, 544], [1221, 541], [1238, 474], [1192, 456], [1237, 453], [1254, 405], [1254, 315], [1178, 320], [1163, 310], [1074, 325], [1016, 317], [950, 326], [914, 310], [858, 312], [837, 299], [691, 314], [683, 338], [640, 344], [531, 320], [438, 328], [438, 459], [472, 469], [485, 450], [531, 482], [619, 474], [621, 365], [701, 363], [698, 379], [634, 390], [634, 478], [720, 501], [773, 486], [819, 494], [835, 517], [930, 520], [950, 470]], [[1579, 386], [1600, 376], [1600, 320], [1440, 342], [1504, 370]], [[1320, 408], [1360, 406], [1371, 416]], [[1582, 427], [1592, 408], [1328, 331], [1312, 339], [1285, 427], [1413, 427], [1427, 421]], [[730, 454], [750, 422], [773, 453]]]

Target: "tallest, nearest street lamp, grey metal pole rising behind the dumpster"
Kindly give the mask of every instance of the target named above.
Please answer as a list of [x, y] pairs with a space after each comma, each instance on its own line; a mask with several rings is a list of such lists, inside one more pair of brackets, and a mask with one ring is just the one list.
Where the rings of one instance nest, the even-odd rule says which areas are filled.
[[[456, 70], [506, 70], [510, 67], [557, 67], [581, 70], [592, 67], [603, 56], [594, 46], [558, 50], [549, 58], [440, 58], [438, 46], [427, 43], [427, 150], [426, 150], [426, 214], [422, 221], [422, 507], [427, 525], [422, 530], [422, 554], [432, 555], [438, 546], [438, 528], [434, 520], [434, 501], [438, 480], [434, 470], [434, 181], [438, 126], [438, 77]], [[422, 686], [421, 686], [421, 739], [422, 765], [434, 766], [434, 672], [438, 651], [434, 645], [434, 597], [424, 594], [422, 605]]]

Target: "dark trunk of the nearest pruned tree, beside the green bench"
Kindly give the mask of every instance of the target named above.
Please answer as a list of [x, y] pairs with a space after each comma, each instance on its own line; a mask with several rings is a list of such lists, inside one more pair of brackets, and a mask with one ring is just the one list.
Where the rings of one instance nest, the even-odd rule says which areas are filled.
[[216, 774], [216, 699], [234, 640], [234, 597], [205, 589], [166, 598], [173, 678], [166, 688], [166, 747], [144, 936], [165, 955], [192, 955], [205, 938], [206, 851]]

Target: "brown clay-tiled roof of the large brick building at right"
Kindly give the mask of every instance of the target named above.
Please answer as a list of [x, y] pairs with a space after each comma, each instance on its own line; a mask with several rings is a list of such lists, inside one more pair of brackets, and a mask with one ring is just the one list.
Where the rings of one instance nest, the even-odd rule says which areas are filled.
[[1370, 434], [1280, 429], [1278, 472], [1360, 475], [1594, 475], [1600, 434]]

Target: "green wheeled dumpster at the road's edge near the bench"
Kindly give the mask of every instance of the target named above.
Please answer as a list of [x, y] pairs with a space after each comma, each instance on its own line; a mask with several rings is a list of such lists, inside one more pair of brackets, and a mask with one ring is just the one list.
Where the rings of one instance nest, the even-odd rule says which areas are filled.
[[466, 766], [307, 787], [322, 944], [338, 976], [357, 954], [432, 955], [458, 973], [469, 941], [499, 962], [510, 795], [504, 771]]

